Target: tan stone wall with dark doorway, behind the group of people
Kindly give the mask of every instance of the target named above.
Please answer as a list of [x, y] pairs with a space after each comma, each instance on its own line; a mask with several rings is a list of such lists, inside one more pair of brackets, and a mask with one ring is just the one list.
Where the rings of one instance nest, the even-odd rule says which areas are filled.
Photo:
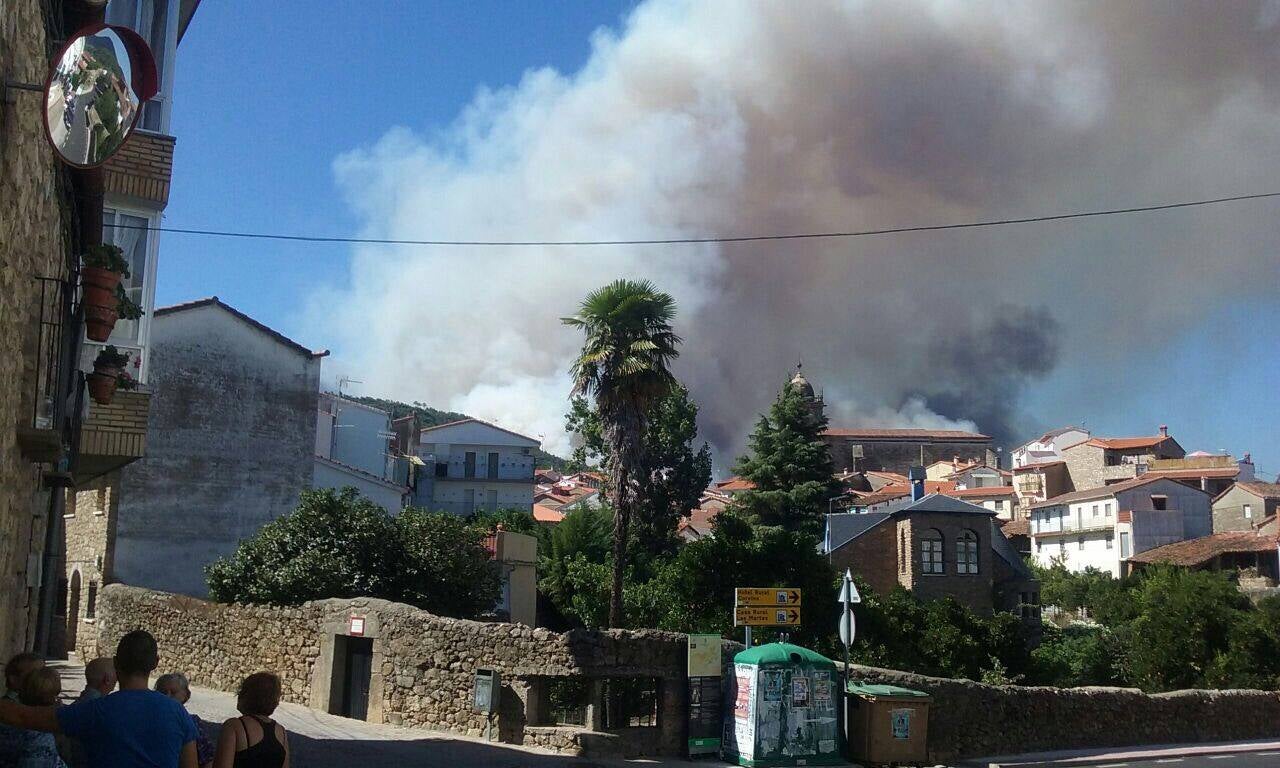
[[[558, 634], [444, 618], [370, 598], [296, 608], [225, 605], [113, 584], [100, 593], [97, 634], [82, 644], [82, 654], [108, 655], [124, 632], [141, 627], [160, 644], [161, 672], [234, 690], [246, 675], [270, 669], [282, 676], [285, 700], [340, 713], [352, 617], [361, 620], [358, 635], [372, 643], [370, 722], [479, 736], [485, 717], [471, 707], [475, 671], [493, 668], [503, 681], [495, 722], [502, 741], [575, 754], [671, 755], [684, 748], [686, 640], [671, 632]], [[605, 732], [590, 716], [585, 728], [541, 724], [547, 684], [563, 677], [654, 680], [657, 726]]]

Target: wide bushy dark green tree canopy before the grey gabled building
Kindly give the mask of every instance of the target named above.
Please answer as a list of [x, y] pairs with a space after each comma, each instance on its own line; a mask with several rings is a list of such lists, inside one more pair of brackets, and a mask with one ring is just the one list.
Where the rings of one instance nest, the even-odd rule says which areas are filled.
[[484, 535], [444, 512], [392, 516], [352, 488], [305, 490], [293, 512], [205, 572], [210, 596], [220, 602], [296, 605], [372, 596], [475, 617], [498, 599]]

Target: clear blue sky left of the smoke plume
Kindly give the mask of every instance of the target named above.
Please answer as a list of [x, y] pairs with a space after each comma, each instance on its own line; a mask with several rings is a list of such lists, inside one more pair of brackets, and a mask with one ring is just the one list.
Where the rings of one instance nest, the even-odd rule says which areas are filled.
[[[394, 125], [451, 123], [481, 86], [573, 70], [627, 1], [204, 3], [178, 55], [165, 224], [349, 236], [334, 159]], [[372, 10], [376, 8], [376, 13]], [[404, 73], [412, 74], [406, 87]], [[300, 301], [346, 280], [346, 246], [164, 236], [156, 303], [216, 294], [305, 343]]]

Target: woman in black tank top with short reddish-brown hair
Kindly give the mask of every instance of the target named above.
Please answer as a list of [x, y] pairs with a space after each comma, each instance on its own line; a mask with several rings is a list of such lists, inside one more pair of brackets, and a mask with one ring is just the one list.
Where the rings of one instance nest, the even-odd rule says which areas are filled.
[[236, 698], [243, 716], [223, 723], [214, 768], [288, 768], [288, 735], [271, 719], [279, 703], [279, 677], [270, 672], [246, 677]]

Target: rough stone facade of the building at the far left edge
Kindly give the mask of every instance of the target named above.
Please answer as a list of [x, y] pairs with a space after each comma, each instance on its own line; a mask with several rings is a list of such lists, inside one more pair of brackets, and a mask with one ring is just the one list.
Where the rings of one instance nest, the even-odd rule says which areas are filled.
[[[5, 0], [0, 79], [44, 84], [52, 51], [41, 0]], [[0, 654], [32, 641], [37, 593], [28, 554], [44, 545], [47, 492], [40, 466], [22, 456], [18, 430], [32, 426], [40, 283], [65, 275], [60, 172], [45, 142], [38, 92], [10, 90], [0, 104]]]

